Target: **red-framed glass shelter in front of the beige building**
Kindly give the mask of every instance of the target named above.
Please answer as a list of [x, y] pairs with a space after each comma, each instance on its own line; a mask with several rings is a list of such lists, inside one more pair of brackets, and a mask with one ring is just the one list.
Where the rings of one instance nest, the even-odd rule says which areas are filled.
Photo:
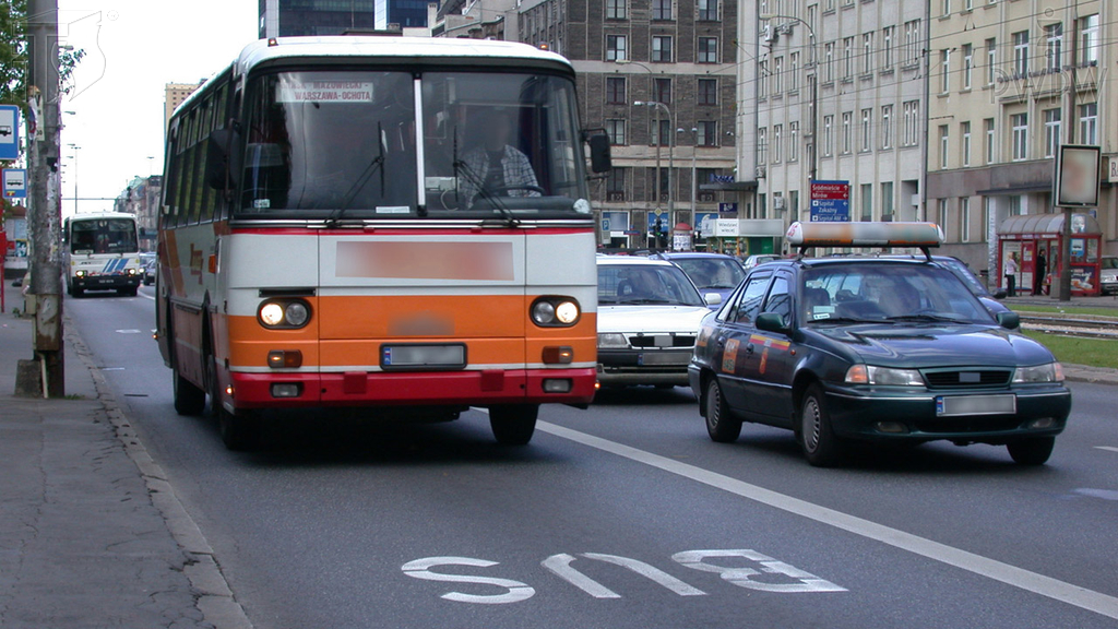
[[[1007, 288], [1006, 261], [1016, 263], [1016, 294], [1048, 294], [1060, 273], [1063, 213], [1011, 216], [997, 228], [998, 282]], [[1099, 294], [1102, 231], [1090, 214], [1071, 216], [1071, 294]], [[1038, 281], [1039, 279], [1039, 281]]]

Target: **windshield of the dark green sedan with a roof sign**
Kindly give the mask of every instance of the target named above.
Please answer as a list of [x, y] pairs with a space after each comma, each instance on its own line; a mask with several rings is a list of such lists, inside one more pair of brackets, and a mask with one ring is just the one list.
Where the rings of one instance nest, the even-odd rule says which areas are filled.
[[808, 323], [994, 320], [950, 271], [932, 264], [828, 264], [804, 273], [800, 317]]

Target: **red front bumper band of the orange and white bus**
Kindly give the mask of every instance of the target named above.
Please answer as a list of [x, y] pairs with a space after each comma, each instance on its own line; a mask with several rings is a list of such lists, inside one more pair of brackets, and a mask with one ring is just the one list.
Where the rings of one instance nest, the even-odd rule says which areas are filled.
[[[595, 369], [348, 374], [230, 374], [238, 409], [371, 405], [588, 404]], [[544, 379], [569, 379], [568, 393], [546, 393]], [[275, 397], [272, 385], [302, 384], [299, 397]]]

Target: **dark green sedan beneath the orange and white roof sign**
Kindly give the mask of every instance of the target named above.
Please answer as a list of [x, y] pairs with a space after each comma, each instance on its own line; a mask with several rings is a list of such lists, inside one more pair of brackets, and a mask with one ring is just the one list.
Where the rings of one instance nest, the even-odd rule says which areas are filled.
[[853, 441], [1002, 444], [1042, 464], [1071, 412], [1063, 372], [930, 260], [800, 259], [755, 267], [702, 325], [691, 388], [714, 441], [790, 429], [834, 466]]

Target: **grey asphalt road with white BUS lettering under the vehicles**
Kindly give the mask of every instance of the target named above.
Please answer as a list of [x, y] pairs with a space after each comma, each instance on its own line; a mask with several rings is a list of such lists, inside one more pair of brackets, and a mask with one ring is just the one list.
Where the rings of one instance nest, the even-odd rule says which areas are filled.
[[[683, 389], [487, 417], [272, 417], [228, 452], [180, 417], [150, 288], [68, 299], [259, 628], [1115, 627], [1114, 387], [1073, 384], [1049, 464], [929, 444], [815, 469], [792, 434], [707, 435]], [[70, 366], [76, 368], [76, 366]]]

